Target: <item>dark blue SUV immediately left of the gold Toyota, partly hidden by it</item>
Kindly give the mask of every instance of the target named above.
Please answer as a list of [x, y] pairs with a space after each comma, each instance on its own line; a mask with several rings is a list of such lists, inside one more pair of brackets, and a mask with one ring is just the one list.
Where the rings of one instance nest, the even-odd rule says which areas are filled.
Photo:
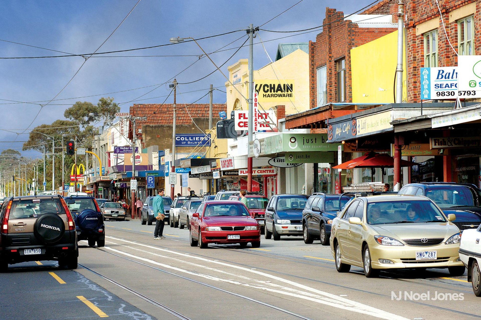
[[304, 242], [311, 244], [316, 238], [323, 246], [328, 246], [332, 219], [351, 199], [352, 196], [339, 194], [314, 193], [310, 196], [302, 216]]

